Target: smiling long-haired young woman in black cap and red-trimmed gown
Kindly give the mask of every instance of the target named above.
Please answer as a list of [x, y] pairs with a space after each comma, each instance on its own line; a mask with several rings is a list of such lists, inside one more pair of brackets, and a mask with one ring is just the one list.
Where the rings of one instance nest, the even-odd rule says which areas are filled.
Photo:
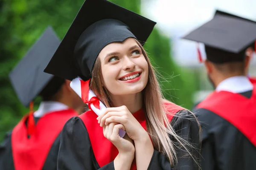
[[66, 123], [58, 170], [199, 168], [198, 123], [192, 113], [163, 99], [140, 43], [154, 25], [106, 0], [86, 0], [81, 7], [45, 71], [91, 79], [90, 89], [107, 109]]

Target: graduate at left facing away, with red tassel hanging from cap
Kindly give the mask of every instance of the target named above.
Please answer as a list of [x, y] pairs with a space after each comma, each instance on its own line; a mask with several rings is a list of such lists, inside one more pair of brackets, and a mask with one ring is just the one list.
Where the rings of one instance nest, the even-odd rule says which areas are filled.
[[[64, 123], [78, 116], [84, 102], [70, 81], [44, 73], [60, 41], [51, 27], [9, 74], [18, 98], [30, 113], [13, 128], [0, 146], [0, 170], [56, 170], [59, 133]], [[32, 101], [42, 97], [37, 111]]]

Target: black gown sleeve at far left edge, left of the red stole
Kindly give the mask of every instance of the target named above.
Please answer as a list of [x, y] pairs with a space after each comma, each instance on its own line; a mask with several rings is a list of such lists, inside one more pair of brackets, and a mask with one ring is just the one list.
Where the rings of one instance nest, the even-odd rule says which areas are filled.
[[6, 133], [0, 145], [0, 170], [14, 170], [12, 158], [12, 131]]

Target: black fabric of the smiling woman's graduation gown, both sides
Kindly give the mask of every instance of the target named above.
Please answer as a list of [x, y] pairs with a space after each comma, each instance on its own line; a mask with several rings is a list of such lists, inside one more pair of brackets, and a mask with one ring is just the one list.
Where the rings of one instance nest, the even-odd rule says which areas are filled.
[[[194, 116], [189, 111], [179, 111], [172, 118], [171, 125], [183, 139], [194, 144], [194, 147], [190, 147], [189, 150], [195, 158], [199, 158], [199, 127]], [[172, 136], [171, 139], [175, 142]], [[148, 170], [198, 170], [195, 161], [186, 156], [182, 148], [176, 148], [176, 150], [178, 163], [175, 167], [170, 166], [168, 159], [162, 153], [154, 150]], [[108, 156], [111, 153], [105, 153], [102, 149], [102, 154]], [[64, 125], [58, 154], [58, 170], [114, 170], [113, 161], [102, 167], [99, 166], [87, 127], [80, 117], [73, 117]]]

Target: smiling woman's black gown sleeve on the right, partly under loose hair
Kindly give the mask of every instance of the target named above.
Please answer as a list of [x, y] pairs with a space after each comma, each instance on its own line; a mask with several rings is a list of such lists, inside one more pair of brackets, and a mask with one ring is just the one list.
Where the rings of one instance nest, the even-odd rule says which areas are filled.
[[148, 170], [198, 170], [198, 164], [200, 163], [198, 160], [200, 158], [200, 128], [195, 116], [189, 111], [180, 111], [172, 119], [171, 125], [179, 136], [192, 144], [192, 147], [186, 146], [186, 148], [193, 157], [182, 146], [178, 146], [177, 141], [171, 136], [172, 141], [177, 144], [177, 163], [175, 167], [170, 166], [169, 160], [162, 153], [154, 150]]

